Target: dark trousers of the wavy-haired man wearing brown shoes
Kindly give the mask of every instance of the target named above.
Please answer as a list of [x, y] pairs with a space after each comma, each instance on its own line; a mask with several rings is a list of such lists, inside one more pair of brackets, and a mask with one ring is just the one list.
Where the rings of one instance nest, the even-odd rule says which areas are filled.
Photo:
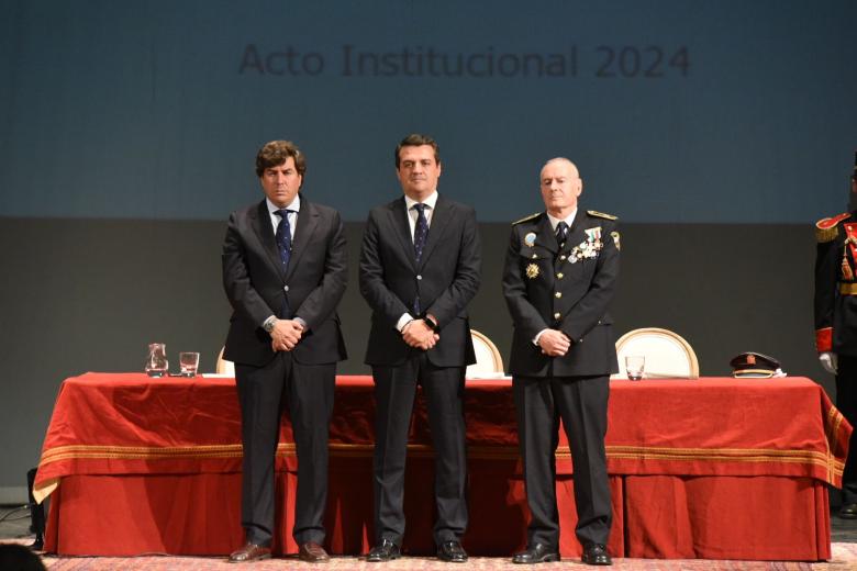
[[327, 435], [336, 365], [301, 365], [278, 352], [265, 367], [235, 365], [241, 404], [242, 526], [247, 541], [270, 546], [274, 536], [274, 464], [280, 416], [288, 408], [298, 452], [294, 529], [298, 545], [324, 542]]

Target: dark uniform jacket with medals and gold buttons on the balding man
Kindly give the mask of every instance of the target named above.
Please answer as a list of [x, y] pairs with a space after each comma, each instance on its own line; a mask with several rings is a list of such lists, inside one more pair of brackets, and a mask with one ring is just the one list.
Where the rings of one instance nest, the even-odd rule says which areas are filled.
[[[512, 226], [503, 270], [503, 295], [514, 322], [512, 374], [577, 377], [617, 371], [613, 318], [608, 313], [619, 276], [619, 233], [611, 219], [578, 209], [561, 251], [544, 212]], [[575, 248], [587, 242], [586, 231], [593, 234], [593, 228], [600, 228], [601, 248], [572, 264]], [[533, 344], [544, 328], [560, 329], [571, 339], [564, 357], [543, 355]]]

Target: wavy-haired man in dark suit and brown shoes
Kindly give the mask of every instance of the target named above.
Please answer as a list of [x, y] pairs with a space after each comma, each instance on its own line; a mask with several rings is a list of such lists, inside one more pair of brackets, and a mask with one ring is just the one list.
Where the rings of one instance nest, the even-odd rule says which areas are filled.
[[235, 362], [244, 446], [244, 547], [231, 562], [270, 557], [275, 455], [283, 403], [298, 454], [292, 535], [299, 557], [326, 561], [327, 432], [336, 362], [345, 359], [336, 305], [347, 253], [340, 214], [299, 189], [307, 163], [288, 141], [256, 156], [265, 200], [233, 212], [223, 243], [223, 287], [232, 304], [225, 359]]

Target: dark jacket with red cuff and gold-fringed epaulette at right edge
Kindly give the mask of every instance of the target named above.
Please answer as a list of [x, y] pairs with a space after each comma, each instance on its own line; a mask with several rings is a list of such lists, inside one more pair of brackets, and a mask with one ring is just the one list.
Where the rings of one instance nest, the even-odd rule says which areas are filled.
[[857, 357], [857, 212], [815, 224], [815, 347]]

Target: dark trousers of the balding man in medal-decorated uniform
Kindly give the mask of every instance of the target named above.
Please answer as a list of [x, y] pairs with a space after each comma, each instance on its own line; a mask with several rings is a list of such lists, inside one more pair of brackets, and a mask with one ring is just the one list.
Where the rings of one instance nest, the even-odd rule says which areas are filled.
[[560, 418], [575, 469], [575, 533], [582, 545], [606, 544], [613, 514], [604, 451], [609, 378], [515, 377], [512, 389], [532, 517], [528, 545], [559, 547], [555, 451]]

